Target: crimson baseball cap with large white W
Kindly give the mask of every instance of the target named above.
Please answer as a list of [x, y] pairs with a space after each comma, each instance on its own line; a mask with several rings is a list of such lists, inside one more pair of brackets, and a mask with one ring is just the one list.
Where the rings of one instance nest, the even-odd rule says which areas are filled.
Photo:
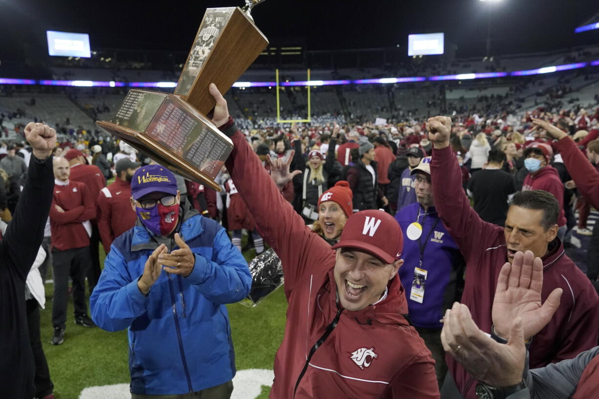
[[341, 240], [332, 246], [365, 250], [385, 263], [393, 263], [401, 256], [404, 237], [400, 224], [382, 210], [364, 210], [347, 219]]

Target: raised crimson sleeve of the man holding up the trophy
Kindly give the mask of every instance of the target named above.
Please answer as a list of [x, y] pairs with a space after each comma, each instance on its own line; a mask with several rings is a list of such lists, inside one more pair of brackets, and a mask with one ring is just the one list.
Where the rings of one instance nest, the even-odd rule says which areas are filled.
[[[229, 119], [221, 130], [229, 131], [231, 125]], [[226, 168], [253, 214], [260, 235], [281, 258], [288, 294], [300, 281], [309, 280], [311, 273], [322, 273], [323, 265], [332, 263], [335, 252], [305, 226], [302, 217], [283, 198], [243, 134], [236, 131], [230, 137], [234, 147]]]

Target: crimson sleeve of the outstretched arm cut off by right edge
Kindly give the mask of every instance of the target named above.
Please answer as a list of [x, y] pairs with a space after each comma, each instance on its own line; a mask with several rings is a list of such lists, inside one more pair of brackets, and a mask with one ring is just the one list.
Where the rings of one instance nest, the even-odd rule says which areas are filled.
[[[597, 131], [599, 134], [599, 131]], [[574, 141], [564, 137], [553, 144], [562, 156], [570, 177], [591, 204], [599, 209], [599, 172], [580, 151]]]

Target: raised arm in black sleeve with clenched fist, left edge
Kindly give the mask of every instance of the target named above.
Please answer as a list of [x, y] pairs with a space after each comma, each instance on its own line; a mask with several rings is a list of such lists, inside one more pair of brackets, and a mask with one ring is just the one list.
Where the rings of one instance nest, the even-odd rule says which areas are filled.
[[25, 188], [0, 244], [0, 251], [8, 255], [10, 265], [16, 268], [23, 280], [29, 273], [44, 238], [52, 202], [52, 149], [56, 143], [56, 131], [42, 123], [30, 122], [25, 126], [25, 137], [33, 147], [33, 155], [29, 161]]

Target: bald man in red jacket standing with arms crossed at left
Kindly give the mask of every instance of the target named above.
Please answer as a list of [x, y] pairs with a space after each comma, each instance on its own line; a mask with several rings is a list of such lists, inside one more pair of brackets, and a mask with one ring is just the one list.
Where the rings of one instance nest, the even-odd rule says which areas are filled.
[[95, 327], [87, 316], [85, 300], [85, 277], [90, 262], [89, 237], [92, 235], [90, 220], [96, 217], [95, 201], [86, 185], [69, 180], [69, 173], [68, 161], [55, 158], [55, 188], [50, 207], [54, 272], [52, 343], [55, 345], [62, 344], [65, 338], [69, 275], [72, 278], [75, 324]]

